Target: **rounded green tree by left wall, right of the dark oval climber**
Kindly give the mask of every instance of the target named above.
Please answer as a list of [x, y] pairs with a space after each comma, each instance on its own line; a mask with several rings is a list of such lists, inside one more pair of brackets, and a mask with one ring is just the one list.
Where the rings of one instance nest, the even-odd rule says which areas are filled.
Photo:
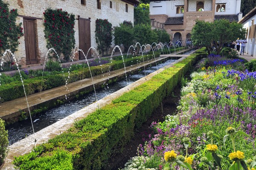
[[115, 28], [114, 31], [115, 44], [124, 45], [125, 51], [134, 43], [134, 29], [131, 22], [124, 21]]

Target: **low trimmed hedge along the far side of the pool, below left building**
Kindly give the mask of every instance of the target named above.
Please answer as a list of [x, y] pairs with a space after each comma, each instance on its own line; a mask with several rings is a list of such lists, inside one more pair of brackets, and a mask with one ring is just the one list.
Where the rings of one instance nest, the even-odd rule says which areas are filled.
[[[159, 53], [155, 54], [155, 57], [159, 57], [159, 56], [160, 56]], [[154, 56], [152, 54], [148, 56], [144, 55], [143, 58], [144, 60], [154, 59]], [[140, 60], [140, 62], [142, 62], [143, 58], [142, 56], [128, 58], [126, 59], [126, 65], [133, 65], [134, 63], [137, 63], [137, 59]], [[124, 68], [124, 63], [122, 59], [113, 61], [112, 63], [103, 64], [102, 66], [98, 65], [98, 66], [90, 67], [90, 70], [91, 70], [92, 76], [96, 76], [96, 75], [102, 74], [102, 72], [106, 73], [108, 71], [113, 71], [120, 68]], [[83, 71], [84, 71], [84, 74], [83, 74]], [[65, 73], [64, 75], [66, 78], [69, 76], [68, 73]], [[81, 79], [90, 78], [90, 77], [91, 75], [90, 75], [89, 68], [75, 70], [70, 73], [70, 78], [68, 79], [68, 83], [76, 82]], [[39, 92], [41, 89], [41, 83], [42, 83], [42, 91], [59, 87], [61, 85], [65, 85], [65, 79], [63, 74], [44, 76], [43, 82], [39, 77], [32, 78], [32, 79], [25, 79], [23, 82], [24, 82], [24, 87], [26, 89], [27, 95]], [[17, 99], [23, 96], [25, 96], [25, 94], [23, 91], [23, 86], [21, 81], [15, 81], [6, 85], [0, 85], [0, 97], [1, 97], [0, 103]]]

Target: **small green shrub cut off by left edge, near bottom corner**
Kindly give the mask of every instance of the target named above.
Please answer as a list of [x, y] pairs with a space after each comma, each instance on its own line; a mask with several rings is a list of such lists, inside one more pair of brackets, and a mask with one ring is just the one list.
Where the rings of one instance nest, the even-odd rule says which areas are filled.
[[4, 121], [0, 119], [0, 165], [3, 163], [7, 155], [7, 147], [9, 145], [8, 133], [4, 127]]

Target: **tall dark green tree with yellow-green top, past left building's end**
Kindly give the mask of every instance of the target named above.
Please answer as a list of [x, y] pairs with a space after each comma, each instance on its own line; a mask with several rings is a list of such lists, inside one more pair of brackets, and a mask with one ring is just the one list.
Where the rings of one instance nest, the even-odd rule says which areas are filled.
[[137, 24], [149, 24], [149, 4], [140, 3], [134, 7], [134, 26]]

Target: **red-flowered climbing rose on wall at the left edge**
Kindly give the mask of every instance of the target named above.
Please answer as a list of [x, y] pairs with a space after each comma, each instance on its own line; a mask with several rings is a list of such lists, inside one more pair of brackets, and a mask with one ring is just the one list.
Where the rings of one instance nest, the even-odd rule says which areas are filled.
[[[2, 56], [6, 49], [10, 49], [12, 53], [17, 51], [20, 44], [19, 39], [23, 36], [23, 28], [21, 23], [18, 25], [16, 17], [17, 9], [9, 11], [9, 4], [0, 0], [0, 55]], [[13, 65], [13, 58], [9, 52], [6, 54], [5, 60], [8, 65]]]

